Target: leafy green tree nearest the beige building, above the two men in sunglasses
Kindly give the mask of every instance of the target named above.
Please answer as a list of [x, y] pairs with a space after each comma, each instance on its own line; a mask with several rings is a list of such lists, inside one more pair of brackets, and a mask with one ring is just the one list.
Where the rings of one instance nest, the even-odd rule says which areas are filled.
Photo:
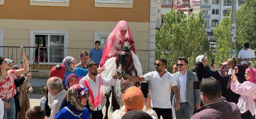
[[191, 70], [196, 56], [208, 51], [203, 18], [201, 12], [198, 16], [192, 14], [187, 17], [182, 11], [174, 9], [165, 14], [163, 27], [160, 31], [156, 30], [156, 58], [166, 58], [169, 71], [181, 56], [188, 58], [188, 69]]

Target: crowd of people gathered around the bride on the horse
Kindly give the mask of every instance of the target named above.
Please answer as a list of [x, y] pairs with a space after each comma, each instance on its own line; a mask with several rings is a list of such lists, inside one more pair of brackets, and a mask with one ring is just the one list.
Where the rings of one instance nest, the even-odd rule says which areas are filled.
[[[126, 37], [127, 29], [128, 25], [118, 28], [121, 37]], [[108, 62], [108, 56], [115, 54], [106, 55], [105, 50], [102, 53], [99, 41], [94, 46], [90, 53], [80, 53], [80, 63], [67, 56], [61, 65], [52, 67], [39, 106], [31, 108], [27, 93], [33, 89], [25, 53], [20, 52], [23, 65], [0, 56], [0, 119], [103, 119], [103, 86], [114, 85], [120, 77], [100, 75], [105, 70], [101, 61]], [[172, 71], [166, 69], [165, 58], [158, 58], [155, 71], [124, 75], [134, 82], [149, 82], [150, 90], [145, 97], [141, 87], [127, 87], [119, 95], [123, 105], [113, 112], [112, 119], [254, 119], [256, 69], [252, 67], [255, 55], [251, 53], [249, 43], [245, 43], [238, 55], [243, 64], [232, 57], [219, 65], [219, 71], [215, 64], [208, 66], [204, 55], [196, 58], [191, 71], [186, 57], [178, 57]], [[198, 81], [201, 83], [196, 89], [194, 82]]]

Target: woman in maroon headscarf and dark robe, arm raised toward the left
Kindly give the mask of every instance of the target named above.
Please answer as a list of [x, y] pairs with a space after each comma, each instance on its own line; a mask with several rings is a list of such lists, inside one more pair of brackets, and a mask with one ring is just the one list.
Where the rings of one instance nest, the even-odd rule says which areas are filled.
[[[220, 75], [217, 71], [217, 68], [215, 65], [212, 66], [215, 78], [220, 82], [221, 86], [221, 96], [225, 97], [228, 102], [238, 103], [238, 99], [240, 97], [239, 94], [234, 93], [230, 87], [231, 87], [231, 75]], [[246, 81], [244, 75], [245, 75], [245, 67], [243, 64], [236, 64], [234, 66], [234, 74], [238, 78], [238, 81], [240, 83], [243, 83]]]

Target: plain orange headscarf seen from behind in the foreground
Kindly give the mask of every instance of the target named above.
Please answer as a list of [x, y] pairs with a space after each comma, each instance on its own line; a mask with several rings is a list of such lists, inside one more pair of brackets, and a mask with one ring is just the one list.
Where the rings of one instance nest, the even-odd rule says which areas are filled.
[[142, 110], [144, 106], [144, 96], [142, 91], [133, 86], [128, 88], [123, 96], [123, 103], [125, 105], [125, 111], [130, 110]]

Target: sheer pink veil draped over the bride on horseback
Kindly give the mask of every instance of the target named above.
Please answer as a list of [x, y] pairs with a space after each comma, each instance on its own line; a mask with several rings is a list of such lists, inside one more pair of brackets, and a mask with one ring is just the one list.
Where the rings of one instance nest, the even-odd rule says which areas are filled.
[[[123, 29], [127, 29], [127, 32], [125, 35], [121, 35]], [[128, 26], [126, 21], [119, 21], [116, 25], [116, 27], [112, 30], [110, 35], [107, 37], [107, 41], [105, 43], [104, 52], [102, 54], [102, 58], [100, 61], [100, 67], [102, 67], [107, 59], [116, 56], [118, 53], [119, 48], [119, 41], [121, 41], [122, 45], [125, 45], [127, 42], [128, 45], [132, 45], [134, 43], [130, 27]], [[128, 46], [129, 47], [129, 46]], [[132, 48], [132, 52], [135, 52], [135, 47]]]

